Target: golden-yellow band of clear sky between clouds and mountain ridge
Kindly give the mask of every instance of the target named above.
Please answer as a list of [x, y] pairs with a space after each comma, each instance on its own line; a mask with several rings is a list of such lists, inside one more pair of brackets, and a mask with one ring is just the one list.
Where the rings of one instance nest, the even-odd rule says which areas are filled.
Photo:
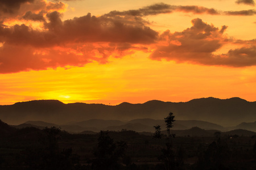
[[[1, 104], [56, 99], [64, 103], [119, 104], [239, 96], [254, 101], [256, 67], [245, 69], [152, 61], [137, 52], [108, 64], [3, 74]], [[26, 81], [24, 81], [26, 80]]]

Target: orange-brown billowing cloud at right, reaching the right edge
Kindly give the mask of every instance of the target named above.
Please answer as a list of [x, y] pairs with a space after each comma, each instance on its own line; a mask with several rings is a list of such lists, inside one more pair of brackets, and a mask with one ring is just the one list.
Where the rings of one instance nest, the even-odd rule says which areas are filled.
[[221, 29], [204, 23], [201, 19], [193, 19], [192, 27], [182, 32], [164, 32], [160, 35], [162, 44], [150, 54], [151, 59], [175, 61], [177, 63], [194, 63], [199, 65], [220, 65], [230, 67], [244, 67], [256, 65], [255, 41], [240, 43], [250, 44], [240, 49], [229, 50], [227, 54], [216, 55], [218, 49], [230, 40], [223, 33], [227, 28]]

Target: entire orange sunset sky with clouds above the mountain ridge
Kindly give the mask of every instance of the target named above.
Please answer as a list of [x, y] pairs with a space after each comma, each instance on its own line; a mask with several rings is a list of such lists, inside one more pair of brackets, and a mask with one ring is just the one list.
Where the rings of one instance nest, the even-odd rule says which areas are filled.
[[0, 0], [0, 105], [256, 101], [254, 0]]

